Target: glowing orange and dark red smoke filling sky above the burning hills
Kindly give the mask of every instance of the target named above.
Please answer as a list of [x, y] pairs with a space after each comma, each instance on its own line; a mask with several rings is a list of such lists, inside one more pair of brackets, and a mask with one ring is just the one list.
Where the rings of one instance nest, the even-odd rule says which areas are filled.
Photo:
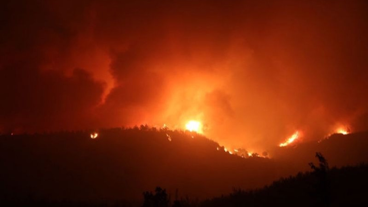
[[8, 1], [0, 130], [147, 123], [264, 150], [368, 129], [366, 1]]

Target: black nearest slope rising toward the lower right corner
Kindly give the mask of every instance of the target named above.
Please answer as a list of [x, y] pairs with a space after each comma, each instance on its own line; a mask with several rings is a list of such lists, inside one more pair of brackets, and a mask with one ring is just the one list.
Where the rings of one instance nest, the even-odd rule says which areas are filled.
[[190, 206], [368, 206], [367, 175], [368, 165], [365, 164], [333, 168], [326, 173], [298, 173], [259, 190], [235, 190], [229, 196]]

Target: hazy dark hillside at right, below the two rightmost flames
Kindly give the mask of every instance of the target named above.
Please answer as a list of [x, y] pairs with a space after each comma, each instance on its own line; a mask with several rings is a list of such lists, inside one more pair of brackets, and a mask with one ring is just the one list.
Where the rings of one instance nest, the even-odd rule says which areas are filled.
[[[308, 137], [305, 138], [308, 140]], [[330, 166], [342, 167], [368, 163], [368, 132], [352, 134], [332, 134], [319, 143], [306, 141], [295, 146], [277, 147], [270, 154], [277, 162], [279, 175], [287, 176], [308, 170], [308, 163], [314, 153], [322, 152], [329, 159]]]

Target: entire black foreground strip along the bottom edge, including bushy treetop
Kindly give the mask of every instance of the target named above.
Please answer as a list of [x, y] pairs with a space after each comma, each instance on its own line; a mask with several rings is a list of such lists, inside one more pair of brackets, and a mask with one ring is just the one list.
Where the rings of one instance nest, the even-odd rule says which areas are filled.
[[173, 198], [165, 189], [157, 187], [155, 192], [146, 192], [141, 201], [109, 203], [106, 201], [65, 200], [1, 200], [4, 206], [37, 207], [346, 207], [368, 206], [368, 165], [346, 166], [340, 169], [321, 170], [317, 166], [312, 172], [281, 178], [270, 186], [256, 190], [234, 189], [226, 196], [204, 201], [188, 197]]

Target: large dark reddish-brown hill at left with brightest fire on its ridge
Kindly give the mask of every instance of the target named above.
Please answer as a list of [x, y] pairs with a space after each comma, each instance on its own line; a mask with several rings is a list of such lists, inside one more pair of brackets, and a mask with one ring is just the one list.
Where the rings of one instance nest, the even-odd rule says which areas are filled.
[[143, 191], [165, 186], [206, 198], [277, 178], [272, 160], [230, 155], [198, 134], [145, 127], [100, 130], [96, 139], [90, 133], [1, 136], [0, 197], [141, 200]]

